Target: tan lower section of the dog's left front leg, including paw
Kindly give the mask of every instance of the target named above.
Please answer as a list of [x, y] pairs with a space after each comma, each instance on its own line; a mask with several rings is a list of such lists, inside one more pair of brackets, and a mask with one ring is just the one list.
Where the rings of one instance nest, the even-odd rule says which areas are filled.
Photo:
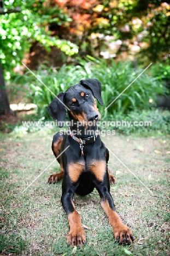
[[82, 228], [80, 215], [76, 210], [68, 214], [68, 222], [70, 231], [67, 236], [67, 242], [71, 243], [72, 246], [83, 245], [86, 241], [86, 234]]

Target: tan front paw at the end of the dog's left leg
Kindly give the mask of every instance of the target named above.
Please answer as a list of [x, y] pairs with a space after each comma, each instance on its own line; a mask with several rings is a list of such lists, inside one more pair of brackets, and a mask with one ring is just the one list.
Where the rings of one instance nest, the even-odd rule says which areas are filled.
[[71, 229], [67, 236], [67, 243], [71, 246], [78, 246], [79, 248], [82, 245], [85, 245], [86, 242], [86, 233], [83, 228], [75, 227]]

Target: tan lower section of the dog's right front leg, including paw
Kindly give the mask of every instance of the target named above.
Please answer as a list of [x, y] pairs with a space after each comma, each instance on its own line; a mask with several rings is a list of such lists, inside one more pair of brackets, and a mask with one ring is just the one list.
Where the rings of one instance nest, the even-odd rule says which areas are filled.
[[118, 213], [110, 208], [109, 202], [107, 200], [101, 201], [101, 206], [109, 218], [109, 223], [112, 225], [115, 240], [119, 237], [120, 243], [131, 243], [131, 229], [122, 223]]

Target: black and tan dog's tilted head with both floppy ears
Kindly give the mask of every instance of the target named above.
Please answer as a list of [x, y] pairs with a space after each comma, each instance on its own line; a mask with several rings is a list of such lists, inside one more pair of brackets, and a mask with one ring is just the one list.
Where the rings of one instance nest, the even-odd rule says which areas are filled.
[[97, 79], [81, 80], [66, 92], [60, 92], [49, 104], [48, 113], [60, 124], [66, 119], [66, 108], [69, 109], [69, 116], [78, 121], [98, 121], [101, 114], [98, 112], [95, 98], [103, 106], [101, 92], [102, 86]]

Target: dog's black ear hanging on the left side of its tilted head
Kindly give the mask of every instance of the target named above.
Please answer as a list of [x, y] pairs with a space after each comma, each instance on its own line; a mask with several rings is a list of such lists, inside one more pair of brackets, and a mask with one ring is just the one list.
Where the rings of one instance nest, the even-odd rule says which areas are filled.
[[[48, 106], [48, 113], [52, 118], [57, 120], [57, 122], [60, 122], [60, 124], [66, 120], [66, 109], [62, 104], [64, 95], [64, 92], [60, 92], [60, 94], [57, 95], [57, 98], [55, 98]], [[58, 126], [61, 128], [63, 125]]]

